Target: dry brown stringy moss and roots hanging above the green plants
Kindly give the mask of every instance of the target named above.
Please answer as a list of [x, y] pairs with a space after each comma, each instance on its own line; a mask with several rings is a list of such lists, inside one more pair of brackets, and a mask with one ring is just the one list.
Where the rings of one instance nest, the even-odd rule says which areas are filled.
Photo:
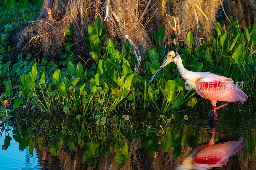
[[[144, 48], [154, 46], [154, 30], [158, 30], [163, 24], [166, 27], [165, 35], [170, 42], [174, 38], [177, 42], [186, 40], [186, 34], [190, 30], [196, 37], [208, 36], [211, 33], [217, 10], [222, 3], [221, 0], [183, 2], [174, 0], [173, 3], [171, 2], [166, 0], [164, 2], [163, 0], [151, 0], [150, 3], [145, 0], [110, 0], [110, 10], [115, 11], [132, 41], [141, 52], [144, 52]], [[103, 22], [105, 0], [60, 0], [58, 5], [61, 11], [54, 10], [56, 4], [53, 5], [52, 14], [38, 19], [34, 25], [28, 24], [18, 33], [18, 50], [23, 49], [22, 52], [28, 53], [36, 49], [39, 50], [40, 55], [54, 60], [54, 57], [63, 53], [63, 46], [66, 43], [64, 32], [66, 27], [71, 26], [74, 30], [71, 41], [78, 42], [72, 46], [72, 50], [81, 49], [89, 52], [80, 40], [81, 36], [88, 37], [88, 25], [93, 24], [98, 16], [102, 19], [103, 27], [108, 27], [105, 40], [110, 37], [117, 46], [125, 41], [114, 21]], [[114, 19], [112, 15], [110, 17]], [[169, 43], [170, 45], [172, 46]]]

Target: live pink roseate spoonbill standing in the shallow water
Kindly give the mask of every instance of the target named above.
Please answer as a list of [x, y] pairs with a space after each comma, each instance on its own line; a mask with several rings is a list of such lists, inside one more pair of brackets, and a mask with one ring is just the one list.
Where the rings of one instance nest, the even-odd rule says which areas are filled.
[[[221, 107], [227, 106], [230, 102], [243, 104], [248, 98], [247, 95], [233, 83], [234, 81], [231, 78], [209, 72], [188, 71], [184, 68], [180, 55], [174, 51], [167, 53], [163, 64], [150, 79], [150, 82], [153, 81], [157, 73], [170, 62], [174, 62], [177, 65], [180, 75], [184, 78], [186, 84], [194, 88], [196, 93], [201, 97], [211, 101], [213, 109], [208, 115], [209, 120], [214, 122], [217, 120], [216, 110]], [[218, 100], [226, 101], [226, 103], [216, 107]]]

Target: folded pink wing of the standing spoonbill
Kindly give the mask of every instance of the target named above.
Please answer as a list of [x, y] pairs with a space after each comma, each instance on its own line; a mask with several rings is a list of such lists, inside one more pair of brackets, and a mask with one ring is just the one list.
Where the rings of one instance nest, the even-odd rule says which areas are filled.
[[197, 80], [195, 90], [200, 96], [209, 100], [245, 101], [246, 94], [233, 82], [231, 78], [210, 74]]

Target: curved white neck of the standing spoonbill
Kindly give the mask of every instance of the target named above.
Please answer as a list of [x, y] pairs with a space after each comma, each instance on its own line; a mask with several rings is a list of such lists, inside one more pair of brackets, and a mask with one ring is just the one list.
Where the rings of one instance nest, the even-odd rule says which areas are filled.
[[178, 70], [179, 70], [180, 75], [181, 75], [182, 78], [184, 78], [185, 80], [191, 80], [191, 81], [194, 81], [194, 80], [197, 79], [196, 72], [188, 71], [187, 69], [185, 69], [185, 67], [182, 64], [182, 60], [180, 58], [180, 55], [176, 56], [173, 61], [177, 65]]

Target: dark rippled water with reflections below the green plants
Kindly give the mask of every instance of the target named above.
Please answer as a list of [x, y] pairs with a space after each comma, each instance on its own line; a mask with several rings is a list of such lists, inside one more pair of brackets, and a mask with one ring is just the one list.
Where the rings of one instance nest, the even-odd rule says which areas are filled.
[[253, 106], [220, 109], [216, 123], [208, 122], [209, 109], [165, 114], [175, 115], [167, 129], [159, 116], [142, 113], [133, 129], [116, 122], [95, 131], [77, 120], [64, 130], [49, 120], [14, 119], [1, 129], [0, 169], [256, 169]]

